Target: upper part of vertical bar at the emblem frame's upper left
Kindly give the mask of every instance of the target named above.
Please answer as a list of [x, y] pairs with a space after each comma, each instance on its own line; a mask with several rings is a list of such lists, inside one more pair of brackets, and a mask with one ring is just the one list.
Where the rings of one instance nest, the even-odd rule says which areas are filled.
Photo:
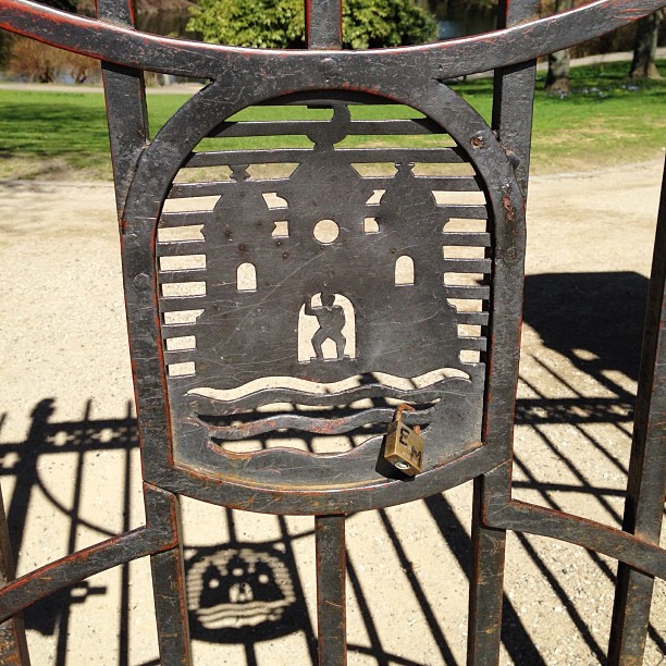
[[[110, 20], [133, 26], [133, 1], [97, 0], [97, 16], [102, 21]], [[148, 141], [146, 87], [140, 70], [109, 62], [102, 62], [101, 66], [115, 182], [115, 205], [120, 219], [134, 169]]]

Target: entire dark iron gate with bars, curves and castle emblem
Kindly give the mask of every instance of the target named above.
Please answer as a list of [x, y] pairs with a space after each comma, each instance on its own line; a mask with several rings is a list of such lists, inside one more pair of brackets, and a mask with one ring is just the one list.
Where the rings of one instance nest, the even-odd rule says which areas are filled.
[[[597, 0], [539, 20], [517, 0], [494, 33], [347, 51], [340, 3], [311, 0], [308, 49], [276, 51], [139, 33], [119, 0], [99, 0], [97, 20], [0, 1], [1, 27], [102, 61], [146, 506], [144, 527], [16, 580], [4, 530], [4, 663], [27, 663], [24, 608], [144, 556], [161, 662], [190, 663], [188, 601], [212, 578], [186, 599], [182, 494], [314, 517], [319, 662], [343, 664], [345, 516], [472, 479], [468, 662], [498, 661], [506, 530], [618, 559], [608, 661], [641, 661], [666, 576], [664, 192], [624, 530], [514, 499], [511, 437], [535, 59], [661, 4]], [[490, 126], [446, 85], [489, 70]], [[209, 81], [152, 139], [144, 71]], [[394, 116], [365, 114], [373, 104]], [[247, 120], [257, 106], [283, 109]], [[304, 147], [225, 148], [286, 135]], [[393, 145], [368, 147], [377, 135]], [[405, 403], [424, 441], [410, 473], [384, 456]], [[233, 576], [213, 564], [218, 585]]]

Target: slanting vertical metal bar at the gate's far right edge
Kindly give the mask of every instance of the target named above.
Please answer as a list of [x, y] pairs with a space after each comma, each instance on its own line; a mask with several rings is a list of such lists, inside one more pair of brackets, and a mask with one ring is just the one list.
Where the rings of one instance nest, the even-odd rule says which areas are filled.
[[[659, 542], [666, 482], [666, 165], [648, 292], [622, 528]], [[654, 579], [620, 563], [608, 644], [608, 664], [642, 664]]]

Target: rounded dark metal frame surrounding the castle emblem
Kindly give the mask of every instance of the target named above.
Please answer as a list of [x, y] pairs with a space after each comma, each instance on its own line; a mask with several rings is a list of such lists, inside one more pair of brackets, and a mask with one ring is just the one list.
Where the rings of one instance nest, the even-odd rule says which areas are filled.
[[[356, 76], [348, 81], [347, 89], [367, 90], [367, 72], [357, 72]], [[202, 455], [197, 464], [197, 467], [205, 465], [206, 471], [185, 468], [182, 465], [174, 466], [166, 387], [159, 387], [159, 400], [156, 397], [158, 388], [155, 380], [145, 393], [141, 391], [141, 382], [147, 381], [141, 378], [158, 378], [163, 368], [159, 312], [155, 296], [157, 274], [153, 246], [162, 202], [181, 164], [198, 141], [225, 118], [248, 106], [295, 90], [307, 92], [310, 89], [337, 89], [331, 81], [326, 83], [325, 73], [314, 82], [308, 82], [308, 86], [304, 86], [301, 82], [300, 72], [292, 72], [284, 78], [260, 77], [259, 72], [250, 84], [245, 82], [245, 86], [252, 90], [252, 94], [242, 99], [234, 96], [233, 91], [230, 95], [222, 82], [215, 82], [181, 108], [160, 131], [153, 144], [144, 151], [138, 162], [123, 220], [126, 300], [135, 314], [140, 313], [140, 317], [134, 317], [130, 324], [136, 365], [135, 377], [139, 386], [137, 411], [141, 417], [139, 422], [143, 424], [144, 469], [148, 482], [214, 504], [271, 513], [312, 513], [311, 508], [304, 510], [303, 503], [299, 502], [299, 495], [307, 492], [319, 498], [317, 513], [349, 513], [390, 506], [441, 492], [486, 472], [507, 459], [510, 441], [510, 425], [507, 430], [507, 424], [510, 424], [510, 410], [507, 400], [503, 400], [501, 396], [506, 394], [507, 390], [513, 395], [517, 377], [519, 331], [516, 307], [519, 309], [520, 304], [514, 295], [520, 288], [522, 275], [522, 198], [511, 163], [492, 131], [453, 90], [444, 84], [430, 81], [428, 88], [423, 85], [419, 88], [423, 95], [415, 96], [411, 81], [393, 81], [385, 72], [383, 76], [373, 77], [372, 92], [375, 95], [395, 101], [410, 98], [422, 100], [411, 102], [410, 106], [437, 122], [468, 153], [470, 163], [485, 182], [496, 239], [493, 264], [496, 296], [492, 316], [496, 321], [497, 333], [490, 343], [489, 366], [493, 365], [494, 358], [503, 358], [503, 362], [495, 363], [494, 372], [488, 381], [488, 395], [492, 397], [488, 398], [484, 424], [486, 445], [471, 447], [458, 459], [420, 474], [411, 483], [369, 478], [367, 472], [366, 476], [359, 477], [357, 473], [349, 479], [345, 472], [344, 483], [325, 486], [321, 481], [314, 482], [314, 477], [306, 479], [304, 456], [308, 454], [292, 449], [283, 449], [281, 455], [289, 458], [292, 468], [297, 469], [298, 473], [293, 469], [288, 472], [289, 466], [283, 466], [284, 469], [271, 483], [262, 481], [261, 478], [257, 480], [250, 476], [238, 476], [226, 462], [226, 469], [223, 468], [219, 473], [211, 472], [210, 470], [221, 467], [220, 455], [212, 451]], [[143, 193], [148, 190], [153, 193], [153, 196], [143, 196]], [[503, 294], [511, 296], [503, 298]], [[151, 341], [150, 345], [147, 340]], [[274, 452], [263, 452], [266, 455], [272, 453]], [[329, 478], [342, 479], [341, 467], [336, 465], [342, 466], [349, 458], [357, 459], [361, 468], [371, 465], [372, 469], [378, 453], [379, 440], [360, 446], [353, 454], [329, 457], [324, 465], [330, 468]], [[341, 461], [337, 462], [335, 458]], [[323, 462], [320, 460], [318, 465]]]

